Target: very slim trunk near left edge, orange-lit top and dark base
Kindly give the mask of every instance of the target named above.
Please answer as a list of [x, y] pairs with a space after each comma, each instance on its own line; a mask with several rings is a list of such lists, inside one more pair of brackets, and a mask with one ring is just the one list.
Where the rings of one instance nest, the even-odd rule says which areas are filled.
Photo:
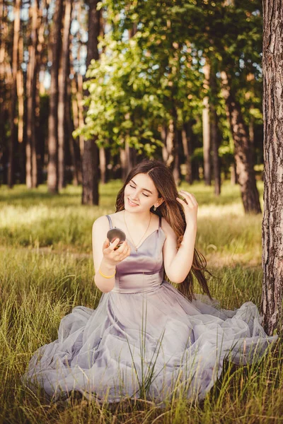
[[11, 138], [8, 148], [8, 187], [14, 184], [14, 156], [16, 144], [16, 103], [17, 103], [17, 73], [18, 73], [18, 40], [21, 28], [21, 0], [16, 0], [13, 7], [13, 52], [12, 52], [12, 87], [11, 87], [11, 112], [10, 129]]

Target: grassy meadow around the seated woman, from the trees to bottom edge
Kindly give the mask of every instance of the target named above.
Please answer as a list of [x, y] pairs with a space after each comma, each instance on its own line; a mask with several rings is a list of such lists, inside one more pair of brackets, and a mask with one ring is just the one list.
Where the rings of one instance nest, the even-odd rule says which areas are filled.
[[[282, 423], [283, 349], [279, 342], [259, 363], [226, 363], [201, 402], [173, 399], [166, 409], [146, 401], [99, 405], [86, 399], [49, 402], [23, 386], [33, 352], [57, 338], [59, 322], [76, 305], [95, 308], [91, 227], [115, 211], [120, 181], [100, 185], [100, 206], [81, 206], [81, 188], [52, 196], [47, 187], [0, 187], [0, 423]], [[260, 306], [262, 216], [245, 216], [237, 186], [182, 189], [199, 204], [197, 248], [214, 274], [209, 288], [221, 307], [251, 300]], [[258, 189], [262, 198], [262, 182]], [[262, 199], [261, 199], [262, 201]]]

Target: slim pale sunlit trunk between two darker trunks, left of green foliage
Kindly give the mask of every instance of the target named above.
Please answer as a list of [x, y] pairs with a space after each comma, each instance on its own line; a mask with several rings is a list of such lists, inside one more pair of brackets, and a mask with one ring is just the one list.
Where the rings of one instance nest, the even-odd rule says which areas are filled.
[[58, 187], [65, 187], [65, 136], [64, 126], [66, 118], [67, 82], [69, 82], [69, 45], [71, 29], [71, 11], [73, 1], [65, 0], [64, 29], [62, 40], [62, 62], [59, 73], [59, 102], [58, 102]]

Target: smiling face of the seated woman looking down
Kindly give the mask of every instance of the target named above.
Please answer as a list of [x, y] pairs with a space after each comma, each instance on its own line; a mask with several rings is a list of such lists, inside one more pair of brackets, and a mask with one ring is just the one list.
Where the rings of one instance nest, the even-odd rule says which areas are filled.
[[137, 174], [129, 181], [124, 192], [125, 209], [130, 212], [149, 211], [151, 206], [162, 203], [151, 177]]

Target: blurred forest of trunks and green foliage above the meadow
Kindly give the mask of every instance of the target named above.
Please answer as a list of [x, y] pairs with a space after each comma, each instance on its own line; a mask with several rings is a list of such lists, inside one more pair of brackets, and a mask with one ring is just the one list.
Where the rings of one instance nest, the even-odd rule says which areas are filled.
[[82, 184], [83, 204], [98, 204], [98, 181], [125, 179], [148, 156], [177, 184], [214, 180], [216, 196], [231, 177], [259, 213], [261, 8], [1, 1], [2, 183]]

